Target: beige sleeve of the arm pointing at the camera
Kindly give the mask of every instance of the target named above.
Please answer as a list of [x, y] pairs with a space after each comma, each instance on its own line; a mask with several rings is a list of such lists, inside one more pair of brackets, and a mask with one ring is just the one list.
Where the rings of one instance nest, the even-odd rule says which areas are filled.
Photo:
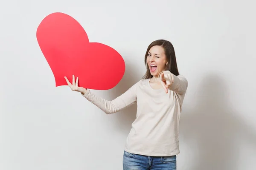
[[[163, 72], [169, 72], [170, 71], [163, 71]], [[175, 91], [177, 94], [183, 95], [186, 93], [186, 90], [188, 88], [188, 81], [183, 75], [178, 75], [174, 77], [174, 82], [172, 85], [170, 85], [169, 90]]]

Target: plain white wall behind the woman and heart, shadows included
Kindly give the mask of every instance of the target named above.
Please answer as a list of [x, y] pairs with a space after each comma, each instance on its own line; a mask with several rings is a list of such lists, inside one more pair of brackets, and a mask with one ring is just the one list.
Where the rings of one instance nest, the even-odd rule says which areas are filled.
[[125, 59], [114, 99], [141, 79], [150, 42], [173, 43], [189, 87], [179, 170], [256, 169], [253, 1], [6, 0], [0, 2], [0, 170], [121, 170], [136, 105], [106, 115], [55, 80], [36, 40], [52, 12]]

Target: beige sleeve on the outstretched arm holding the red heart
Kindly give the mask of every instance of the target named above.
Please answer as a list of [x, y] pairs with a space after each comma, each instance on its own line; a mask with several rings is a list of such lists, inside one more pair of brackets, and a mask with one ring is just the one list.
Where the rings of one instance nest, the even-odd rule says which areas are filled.
[[87, 92], [83, 96], [106, 114], [116, 113], [128, 105], [137, 102], [136, 85], [137, 83], [112, 101], [96, 96], [89, 89], [87, 89]]

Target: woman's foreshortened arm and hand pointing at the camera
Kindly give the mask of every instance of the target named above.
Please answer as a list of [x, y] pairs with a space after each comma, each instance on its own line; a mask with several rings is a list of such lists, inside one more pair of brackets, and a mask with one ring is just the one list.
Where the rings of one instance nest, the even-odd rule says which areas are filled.
[[[163, 73], [163, 74], [162, 74]], [[185, 94], [188, 88], [187, 79], [182, 76], [175, 76], [170, 71], [163, 71], [159, 74], [162, 85], [167, 90], [175, 91], [177, 94]]]

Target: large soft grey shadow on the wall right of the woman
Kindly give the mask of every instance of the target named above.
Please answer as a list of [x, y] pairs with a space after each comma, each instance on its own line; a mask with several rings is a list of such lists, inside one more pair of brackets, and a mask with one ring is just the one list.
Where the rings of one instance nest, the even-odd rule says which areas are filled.
[[[235, 170], [239, 164], [238, 145], [243, 140], [256, 148], [256, 132], [243, 123], [230, 105], [229, 91], [217, 74], [202, 79], [195, 95], [194, 108], [181, 115], [180, 130], [184, 142], [195, 154], [189, 170]], [[192, 143], [197, 146], [192, 146]], [[195, 148], [195, 149], [194, 149]]]

